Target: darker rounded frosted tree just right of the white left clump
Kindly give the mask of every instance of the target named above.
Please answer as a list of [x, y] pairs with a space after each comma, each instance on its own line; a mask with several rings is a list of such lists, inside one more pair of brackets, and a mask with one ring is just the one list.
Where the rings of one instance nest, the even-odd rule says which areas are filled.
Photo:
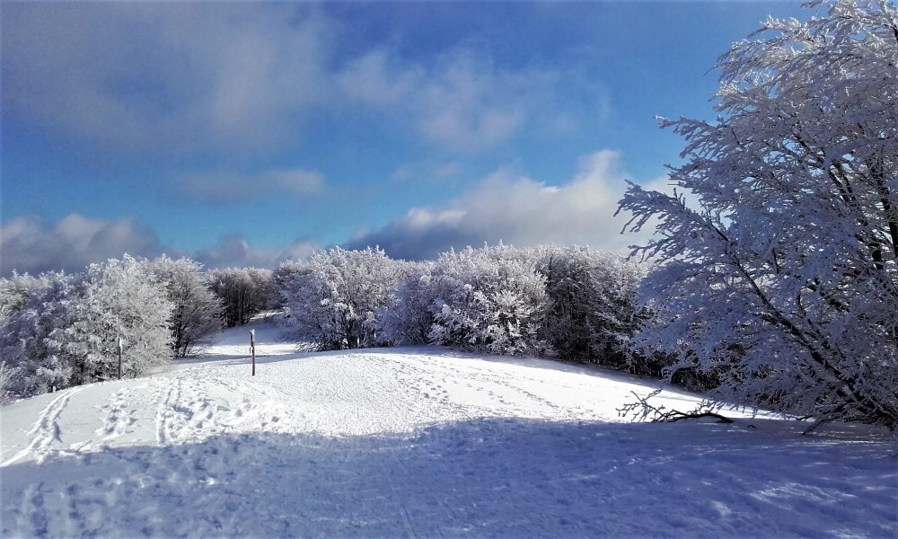
[[222, 328], [222, 305], [206, 286], [206, 278], [200, 274], [202, 266], [187, 258], [172, 260], [163, 255], [151, 268], [174, 305], [169, 327], [175, 356], [196, 354]]

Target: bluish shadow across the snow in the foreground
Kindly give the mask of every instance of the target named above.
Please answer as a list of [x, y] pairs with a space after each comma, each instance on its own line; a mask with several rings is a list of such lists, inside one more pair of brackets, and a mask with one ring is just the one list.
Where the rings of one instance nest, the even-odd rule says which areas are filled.
[[60, 453], [0, 469], [2, 532], [894, 536], [888, 439], [754, 424], [471, 420]]

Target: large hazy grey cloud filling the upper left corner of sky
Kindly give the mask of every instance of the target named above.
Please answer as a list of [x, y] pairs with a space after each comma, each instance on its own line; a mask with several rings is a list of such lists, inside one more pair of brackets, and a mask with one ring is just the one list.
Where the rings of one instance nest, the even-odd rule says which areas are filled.
[[110, 148], [266, 146], [326, 96], [330, 40], [286, 4], [4, 5], [4, 109]]

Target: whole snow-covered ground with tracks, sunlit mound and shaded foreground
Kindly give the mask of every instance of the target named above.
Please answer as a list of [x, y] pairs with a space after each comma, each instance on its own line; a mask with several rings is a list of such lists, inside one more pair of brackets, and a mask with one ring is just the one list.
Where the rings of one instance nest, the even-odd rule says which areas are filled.
[[[204, 358], [0, 410], [3, 536], [894, 537], [894, 438], [632, 424], [650, 381], [445, 349]], [[696, 399], [663, 393], [690, 409]]]

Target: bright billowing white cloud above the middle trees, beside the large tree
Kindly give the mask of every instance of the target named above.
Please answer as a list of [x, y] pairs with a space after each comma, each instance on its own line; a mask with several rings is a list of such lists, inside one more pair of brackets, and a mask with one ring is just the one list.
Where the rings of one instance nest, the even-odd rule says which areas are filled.
[[585, 156], [577, 175], [548, 185], [495, 172], [472, 190], [439, 207], [411, 208], [382, 229], [357, 237], [352, 247], [381, 245], [398, 258], [432, 258], [449, 247], [499, 240], [519, 246], [580, 244], [621, 250], [646, 235], [620, 234], [626, 216], [614, 216], [626, 190], [619, 155]]

